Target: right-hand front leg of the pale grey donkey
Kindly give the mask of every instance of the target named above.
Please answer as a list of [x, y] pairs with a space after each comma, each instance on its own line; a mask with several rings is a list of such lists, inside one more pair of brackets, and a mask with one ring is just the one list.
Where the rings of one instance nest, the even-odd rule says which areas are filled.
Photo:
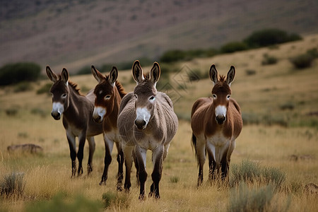
[[153, 184], [151, 184], [149, 197], [155, 196], [155, 199], [160, 199], [159, 182], [163, 173], [163, 153], [163, 146], [158, 146], [158, 148], [153, 151], [153, 173], [151, 174]]

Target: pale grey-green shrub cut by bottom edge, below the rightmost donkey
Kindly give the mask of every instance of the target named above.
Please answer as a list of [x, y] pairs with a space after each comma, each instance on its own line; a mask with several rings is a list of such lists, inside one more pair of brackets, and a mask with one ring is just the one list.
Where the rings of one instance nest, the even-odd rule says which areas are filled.
[[269, 211], [274, 189], [271, 185], [259, 189], [249, 189], [240, 184], [239, 189], [230, 192], [229, 212]]

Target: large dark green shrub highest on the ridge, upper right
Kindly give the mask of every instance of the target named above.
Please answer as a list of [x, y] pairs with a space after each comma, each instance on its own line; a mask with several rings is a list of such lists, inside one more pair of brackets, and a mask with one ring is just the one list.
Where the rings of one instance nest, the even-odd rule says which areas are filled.
[[271, 45], [281, 44], [284, 42], [291, 42], [295, 40], [301, 40], [300, 35], [291, 34], [288, 35], [283, 30], [279, 29], [264, 29], [258, 30], [249, 35], [244, 42], [250, 48], [267, 47]]

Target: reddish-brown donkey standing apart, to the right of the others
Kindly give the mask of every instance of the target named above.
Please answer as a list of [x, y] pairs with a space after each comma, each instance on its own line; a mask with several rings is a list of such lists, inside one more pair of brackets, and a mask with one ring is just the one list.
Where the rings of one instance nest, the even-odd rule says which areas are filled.
[[221, 170], [221, 179], [228, 175], [230, 156], [235, 148], [235, 139], [240, 135], [243, 122], [240, 106], [230, 98], [230, 84], [234, 80], [235, 68], [230, 67], [228, 76], [218, 77], [216, 66], [210, 69], [213, 81], [212, 98], [199, 98], [191, 112], [192, 144], [199, 165], [198, 186], [203, 181], [203, 166], [208, 153], [209, 179]]

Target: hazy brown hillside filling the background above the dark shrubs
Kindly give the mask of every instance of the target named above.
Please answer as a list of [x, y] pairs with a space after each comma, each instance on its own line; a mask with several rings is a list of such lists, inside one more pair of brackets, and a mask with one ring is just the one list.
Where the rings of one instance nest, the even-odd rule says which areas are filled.
[[158, 59], [167, 49], [220, 47], [263, 28], [318, 32], [314, 0], [13, 0], [0, 8], [0, 65], [35, 61], [71, 71]]

